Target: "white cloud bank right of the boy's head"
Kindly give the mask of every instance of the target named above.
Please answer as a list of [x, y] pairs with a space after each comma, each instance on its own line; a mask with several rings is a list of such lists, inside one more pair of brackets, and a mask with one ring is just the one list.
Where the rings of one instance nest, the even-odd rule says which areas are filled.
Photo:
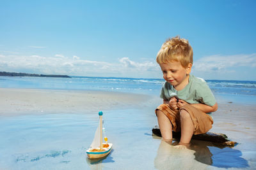
[[[256, 53], [247, 55], [211, 55], [194, 62], [195, 71], [231, 71], [236, 67], [256, 67]], [[231, 70], [230, 70], [231, 69]]]

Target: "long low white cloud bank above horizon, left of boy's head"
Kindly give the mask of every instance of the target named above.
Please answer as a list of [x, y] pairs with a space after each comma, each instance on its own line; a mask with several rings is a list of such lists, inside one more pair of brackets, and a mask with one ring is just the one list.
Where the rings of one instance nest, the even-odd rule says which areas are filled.
[[115, 63], [110, 63], [83, 60], [76, 55], [65, 57], [64, 55], [56, 54], [53, 57], [43, 57], [40, 55], [2, 55], [1, 53], [0, 71], [128, 77], [152, 77], [154, 74], [161, 73], [159, 66], [153, 62], [134, 62], [128, 57], [117, 60]]

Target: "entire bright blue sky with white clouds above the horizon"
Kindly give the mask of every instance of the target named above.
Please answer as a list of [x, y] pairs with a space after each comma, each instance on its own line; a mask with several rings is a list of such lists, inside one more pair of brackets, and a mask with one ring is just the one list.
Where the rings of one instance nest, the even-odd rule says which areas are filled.
[[179, 35], [201, 78], [256, 80], [256, 1], [1, 1], [0, 71], [162, 78]]

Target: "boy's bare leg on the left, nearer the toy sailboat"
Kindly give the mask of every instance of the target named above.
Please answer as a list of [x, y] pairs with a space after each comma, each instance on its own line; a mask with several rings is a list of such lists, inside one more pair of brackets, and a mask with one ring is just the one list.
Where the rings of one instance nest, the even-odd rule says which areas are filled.
[[172, 141], [172, 124], [169, 118], [161, 110], [157, 110], [156, 115], [162, 138], [164, 141]]

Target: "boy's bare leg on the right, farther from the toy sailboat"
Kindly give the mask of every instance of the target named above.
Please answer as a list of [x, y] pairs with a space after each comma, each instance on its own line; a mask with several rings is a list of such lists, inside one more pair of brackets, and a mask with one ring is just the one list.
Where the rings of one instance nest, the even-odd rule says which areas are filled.
[[180, 143], [176, 148], [183, 148], [180, 145], [188, 146], [194, 132], [194, 124], [192, 119], [186, 110], [180, 110]]

